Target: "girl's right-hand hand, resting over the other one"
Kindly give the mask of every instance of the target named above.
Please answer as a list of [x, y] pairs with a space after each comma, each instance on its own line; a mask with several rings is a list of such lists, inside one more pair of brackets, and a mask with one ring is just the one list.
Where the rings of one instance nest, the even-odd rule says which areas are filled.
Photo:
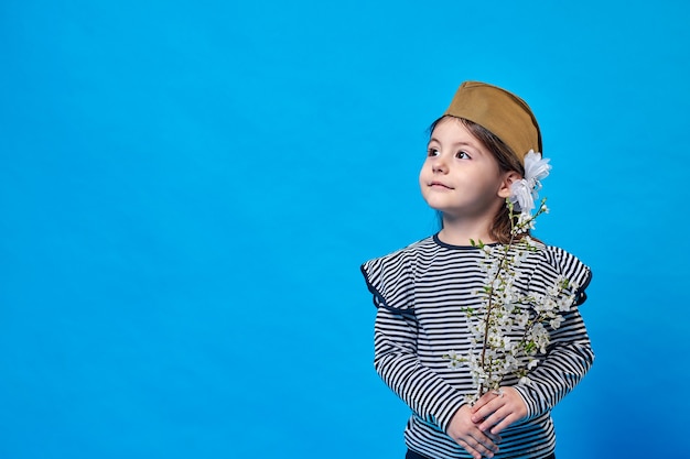
[[488, 392], [472, 407], [472, 422], [482, 431], [498, 435], [510, 424], [527, 416], [527, 405], [513, 387], [500, 387], [500, 393]]

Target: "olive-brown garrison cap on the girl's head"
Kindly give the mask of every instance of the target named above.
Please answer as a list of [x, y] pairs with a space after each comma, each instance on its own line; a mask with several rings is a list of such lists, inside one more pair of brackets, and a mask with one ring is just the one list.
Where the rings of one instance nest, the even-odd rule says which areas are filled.
[[541, 132], [525, 100], [479, 81], [460, 85], [444, 114], [464, 118], [498, 136], [525, 163], [530, 150], [542, 153]]

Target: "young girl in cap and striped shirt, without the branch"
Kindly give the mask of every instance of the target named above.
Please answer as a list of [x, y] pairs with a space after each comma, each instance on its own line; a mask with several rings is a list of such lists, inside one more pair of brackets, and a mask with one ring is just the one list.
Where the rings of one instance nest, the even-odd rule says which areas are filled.
[[594, 360], [575, 307], [585, 299], [587, 266], [537, 241], [517, 267], [515, 288], [524, 297], [542, 298], [563, 278], [574, 288], [573, 307], [547, 327], [549, 345], [522, 378], [506, 375], [499, 390], [475, 400], [470, 365], [450, 365], [448, 356], [470, 352], [477, 342], [471, 331], [477, 315], [470, 312], [486, 308], [478, 294], [488, 282], [484, 248], [506, 247], [518, 221], [508, 203], [516, 210], [535, 207], [545, 174], [531, 171], [546, 161], [533, 152], [541, 152], [541, 133], [524, 100], [495, 86], [463, 83], [432, 124], [419, 178], [442, 229], [362, 266], [378, 308], [376, 370], [412, 411], [405, 430], [408, 459], [554, 458], [550, 412]]

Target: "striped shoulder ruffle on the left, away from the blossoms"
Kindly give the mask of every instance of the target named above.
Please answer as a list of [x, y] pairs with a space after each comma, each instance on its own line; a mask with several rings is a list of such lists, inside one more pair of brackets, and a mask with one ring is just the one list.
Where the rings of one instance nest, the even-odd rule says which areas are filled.
[[407, 248], [362, 265], [376, 307], [399, 313], [414, 310], [414, 259], [413, 251]]

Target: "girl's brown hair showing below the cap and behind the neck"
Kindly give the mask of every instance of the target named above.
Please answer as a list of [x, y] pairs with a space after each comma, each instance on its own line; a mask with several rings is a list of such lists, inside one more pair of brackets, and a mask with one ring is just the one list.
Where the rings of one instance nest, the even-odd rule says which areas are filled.
[[[498, 168], [500, 170], [500, 172], [515, 171], [520, 174], [520, 176], [525, 176], [525, 166], [515, 154], [515, 152], [488, 129], [475, 123], [474, 121], [470, 121], [464, 118], [453, 117], [451, 114], [444, 114], [443, 117], [431, 123], [431, 125], [429, 127], [429, 134], [433, 133], [433, 130], [439, 124], [439, 122], [446, 118], [455, 118], [460, 120], [463, 125], [467, 128], [470, 133], [474, 135], [479, 142], [482, 142], [482, 144], [494, 155], [496, 162], [498, 163]], [[514, 223], [517, 221], [517, 216], [514, 216]], [[497, 242], [508, 243], [510, 241], [511, 227], [513, 225], [510, 222], [510, 212], [508, 210], [508, 206], [502, 206], [500, 210], [496, 214], [496, 217], [494, 218], [488, 233]]]

